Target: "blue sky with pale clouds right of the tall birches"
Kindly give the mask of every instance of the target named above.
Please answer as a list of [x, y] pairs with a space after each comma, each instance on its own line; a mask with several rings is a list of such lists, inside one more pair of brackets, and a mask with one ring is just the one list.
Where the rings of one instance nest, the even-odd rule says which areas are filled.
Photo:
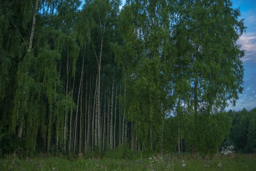
[[233, 8], [239, 7], [247, 26], [246, 33], [237, 42], [241, 49], [246, 50], [245, 57], [241, 58], [244, 64], [244, 92], [239, 95], [236, 106], [227, 110], [251, 110], [256, 107], [256, 0], [233, 0]]

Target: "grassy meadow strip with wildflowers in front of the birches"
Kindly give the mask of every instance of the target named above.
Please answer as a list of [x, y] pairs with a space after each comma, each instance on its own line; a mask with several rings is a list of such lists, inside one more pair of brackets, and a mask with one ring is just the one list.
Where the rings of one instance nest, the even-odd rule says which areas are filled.
[[[111, 157], [112, 156], [112, 157]], [[130, 158], [130, 157], [129, 157]], [[211, 159], [174, 154], [124, 159], [116, 154], [77, 159], [39, 155], [34, 158], [8, 156], [0, 159], [1, 171], [256, 171], [256, 154], [215, 155]]]

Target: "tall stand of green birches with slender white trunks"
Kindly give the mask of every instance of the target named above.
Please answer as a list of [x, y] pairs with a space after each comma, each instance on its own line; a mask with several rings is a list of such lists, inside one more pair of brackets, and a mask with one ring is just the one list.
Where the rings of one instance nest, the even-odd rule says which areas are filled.
[[0, 16], [0, 141], [81, 154], [185, 134], [215, 153], [228, 135], [246, 29], [231, 0], [0, 0]]

